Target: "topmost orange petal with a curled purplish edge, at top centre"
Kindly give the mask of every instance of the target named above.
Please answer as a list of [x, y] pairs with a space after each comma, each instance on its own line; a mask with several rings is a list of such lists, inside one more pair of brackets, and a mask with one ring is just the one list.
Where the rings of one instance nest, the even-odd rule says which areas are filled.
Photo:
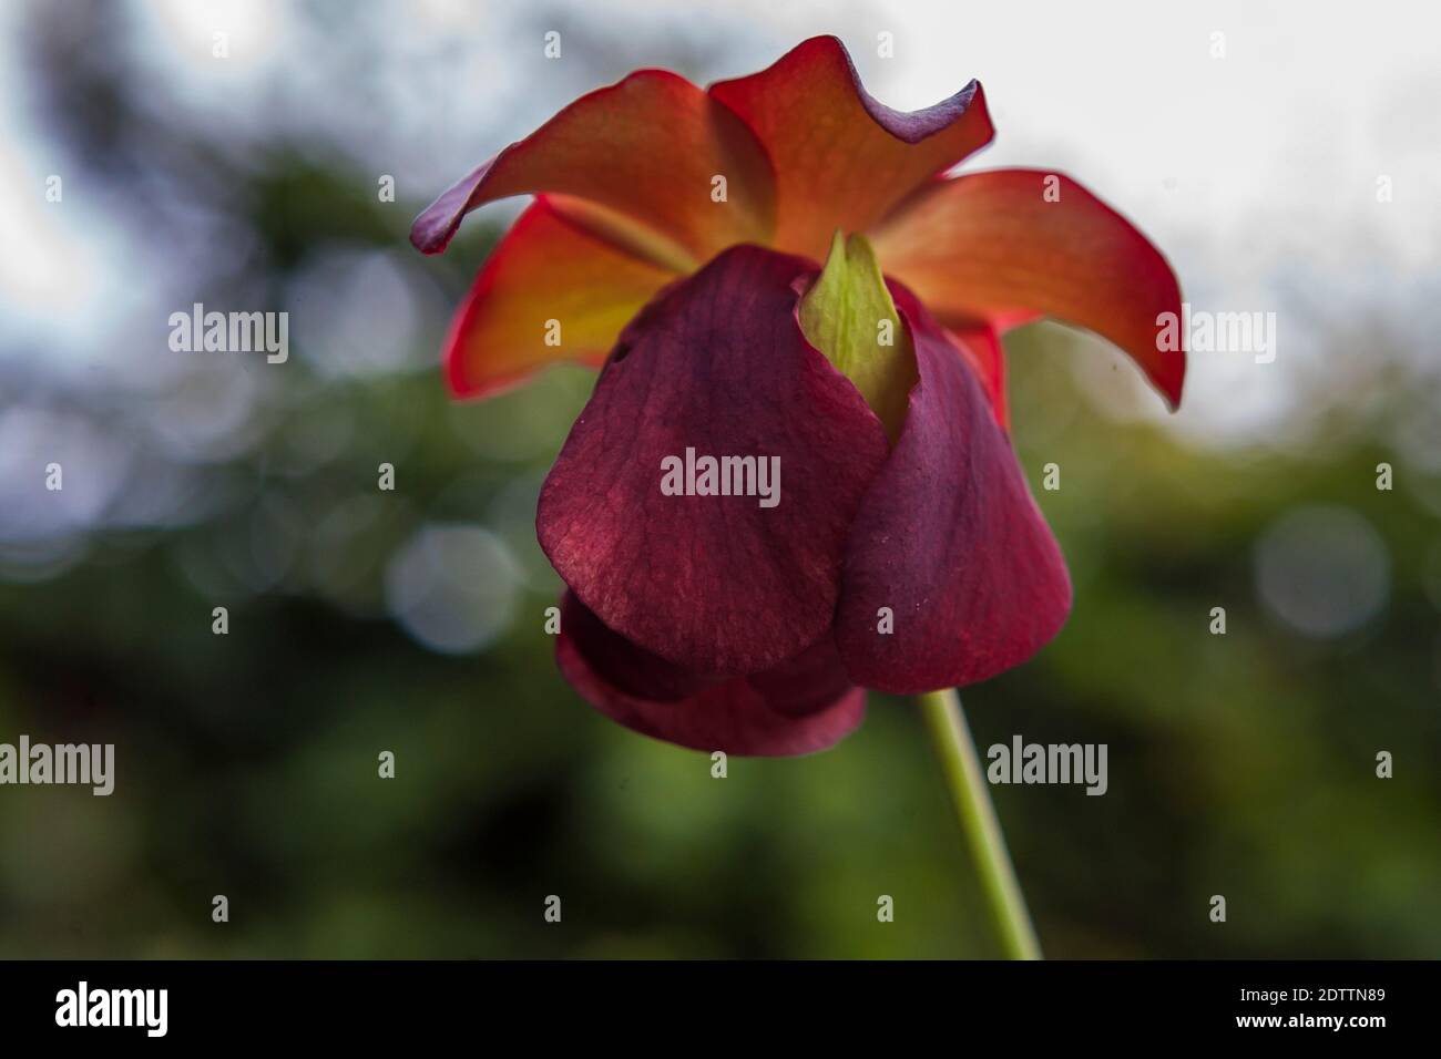
[[710, 85], [775, 164], [775, 246], [826, 258], [831, 233], [862, 232], [980, 147], [993, 128], [977, 82], [914, 114], [872, 98], [836, 37], [806, 40], [771, 68]]

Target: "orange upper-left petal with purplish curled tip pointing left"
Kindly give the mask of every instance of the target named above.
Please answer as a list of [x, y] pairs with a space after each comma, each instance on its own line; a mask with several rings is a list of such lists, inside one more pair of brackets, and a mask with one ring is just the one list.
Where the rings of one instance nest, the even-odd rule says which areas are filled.
[[[716, 176], [726, 179], [723, 202], [712, 195]], [[586, 216], [608, 218], [608, 226], [640, 225], [657, 258], [695, 267], [731, 243], [769, 236], [772, 183], [745, 122], [684, 78], [637, 71], [581, 97], [445, 192], [415, 219], [411, 242], [437, 254], [477, 206], [553, 192], [592, 203], [598, 212]]]

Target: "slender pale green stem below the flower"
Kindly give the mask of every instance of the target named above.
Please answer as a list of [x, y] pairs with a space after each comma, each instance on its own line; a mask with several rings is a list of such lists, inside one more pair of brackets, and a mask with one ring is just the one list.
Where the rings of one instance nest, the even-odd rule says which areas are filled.
[[981, 889], [990, 905], [996, 932], [1007, 960], [1040, 960], [1036, 931], [1026, 913], [1026, 898], [1016, 882], [1016, 869], [1006, 852], [1006, 836], [991, 805], [986, 777], [976, 755], [971, 730], [961, 712], [961, 699], [954, 689], [927, 692], [918, 696], [921, 715], [931, 732], [931, 741], [941, 758], [945, 785], [955, 803], [955, 816], [965, 833], [965, 843], [976, 860]]

